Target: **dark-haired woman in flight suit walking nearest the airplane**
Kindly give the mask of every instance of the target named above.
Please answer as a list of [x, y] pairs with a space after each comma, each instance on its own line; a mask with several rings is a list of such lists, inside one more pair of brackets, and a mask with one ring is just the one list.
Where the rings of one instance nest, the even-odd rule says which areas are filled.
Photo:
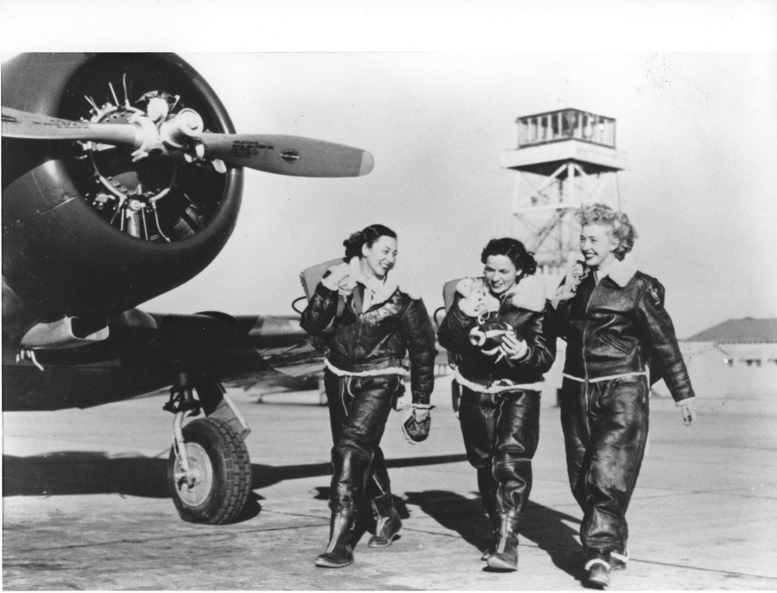
[[434, 329], [420, 292], [395, 267], [394, 231], [374, 224], [343, 242], [345, 262], [324, 275], [301, 326], [326, 344], [324, 385], [332, 426], [332, 524], [319, 567], [354, 562], [351, 537], [362, 499], [375, 510], [368, 546], [389, 546], [402, 527], [383, 453], [386, 419], [402, 391], [409, 353], [413, 415], [423, 424], [434, 388]]

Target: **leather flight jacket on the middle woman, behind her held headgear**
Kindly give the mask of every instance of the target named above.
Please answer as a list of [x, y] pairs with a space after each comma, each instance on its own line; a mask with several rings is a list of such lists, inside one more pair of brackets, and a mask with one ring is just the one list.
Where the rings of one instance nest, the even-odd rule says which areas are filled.
[[[542, 381], [542, 375], [552, 367], [556, 358], [556, 341], [545, 338], [545, 311], [530, 311], [515, 307], [509, 299], [501, 299], [496, 319], [506, 321], [515, 329], [519, 339], [528, 346], [528, 352], [521, 360], [503, 358], [496, 362], [497, 356], [484, 354], [469, 341], [469, 331], [478, 325], [477, 318], [469, 317], [459, 307], [462, 295], [455, 294], [451, 308], [445, 315], [437, 340], [440, 346], [455, 353], [455, 363], [462, 377], [477, 384], [488, 385], [493, 381], [507, 379], [516, 384], [528, 384]], [[492, 314], [490, 318], [495, 317]]]

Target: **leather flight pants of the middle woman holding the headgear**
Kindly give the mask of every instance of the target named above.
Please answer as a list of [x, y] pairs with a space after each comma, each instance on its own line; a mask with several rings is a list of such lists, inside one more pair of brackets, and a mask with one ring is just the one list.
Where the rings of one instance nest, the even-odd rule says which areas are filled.
[[469, 463], [478, 470], [491, 521], [520, 514], [531, 492], [531, 458], [539, 441], [539, 391], [472, 391], [462, 385], [458, 419]]

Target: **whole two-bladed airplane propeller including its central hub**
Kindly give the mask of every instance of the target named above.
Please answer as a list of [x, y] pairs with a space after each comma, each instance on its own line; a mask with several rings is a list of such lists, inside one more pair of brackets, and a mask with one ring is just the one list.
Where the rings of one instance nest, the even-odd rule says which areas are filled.
[[134, 150], [135, 160], [154, 156], [219, 159], [236, 167], [296, 177], [359, 177], [375, 165], [372, 155], [353, 146], [301, 136], [214, 134], [202, 131], [196, 111], [183, 109], [159, 125], [145, 114], [128, 124], [72, 121], [2, 107], [2, 135], [37, 140], [78, 140]]

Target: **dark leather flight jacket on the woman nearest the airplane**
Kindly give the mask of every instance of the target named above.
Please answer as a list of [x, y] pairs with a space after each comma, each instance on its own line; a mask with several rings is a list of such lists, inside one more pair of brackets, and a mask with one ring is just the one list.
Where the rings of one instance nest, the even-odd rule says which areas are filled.
[[361, 310], [362, 302], [361, 284], [343, 298], [319, 282], [300, 325], [323, 342], [329, 363], [347, 373], [395, 370], [409, 353], [413, 402], [429, 403], [437, 351], [423, 300], [396, 289], [388, 300], [372, 304], [367, 311]]

